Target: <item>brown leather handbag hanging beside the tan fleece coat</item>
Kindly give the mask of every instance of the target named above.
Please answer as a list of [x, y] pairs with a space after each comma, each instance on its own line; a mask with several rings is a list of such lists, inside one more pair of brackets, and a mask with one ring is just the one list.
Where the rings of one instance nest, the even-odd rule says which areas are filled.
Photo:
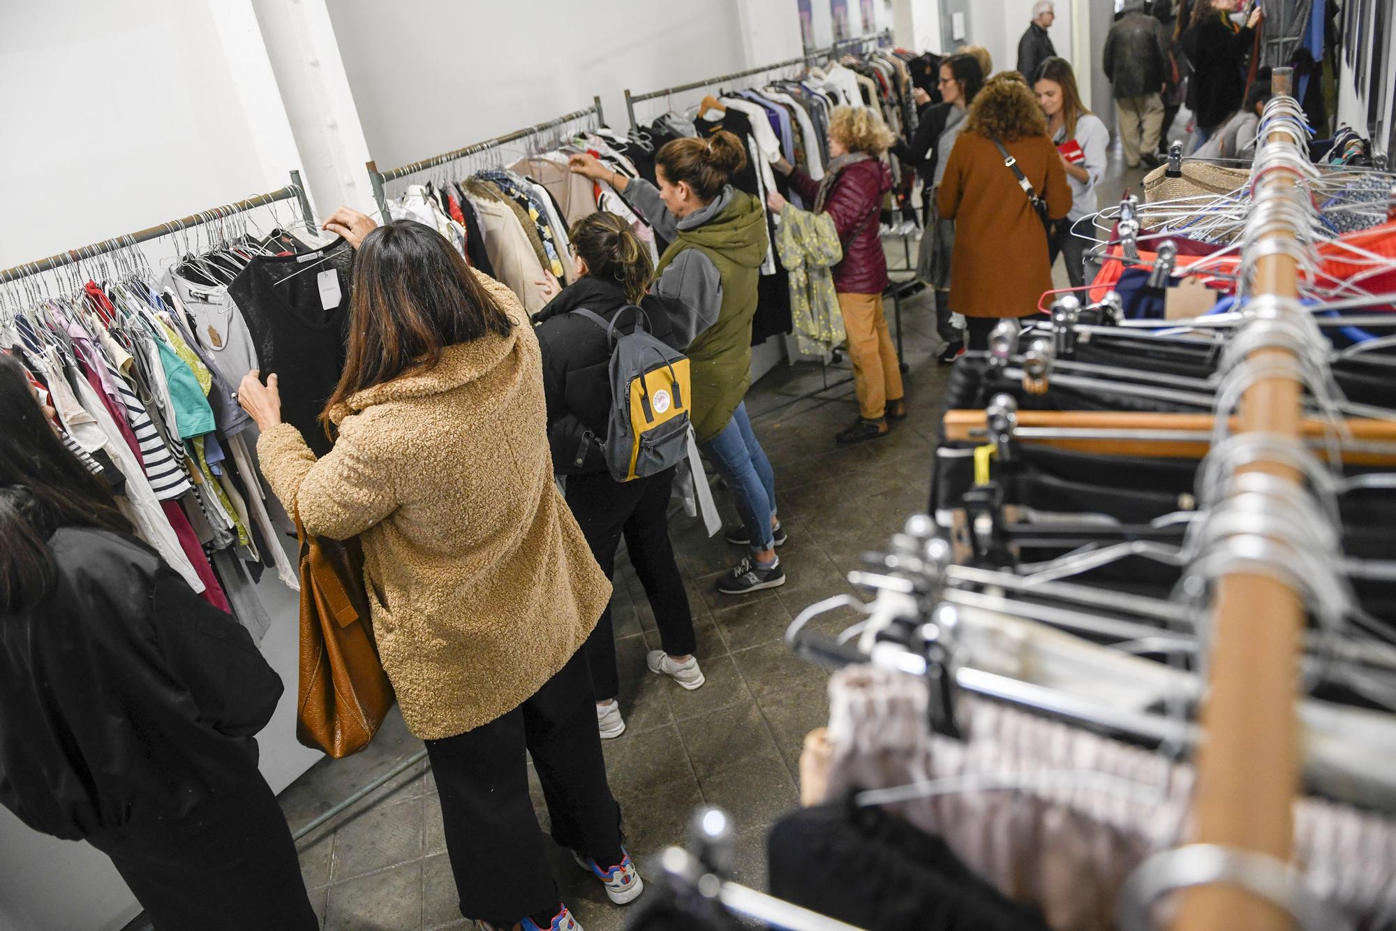
[[378, 661], [357, 540], [300, 540], [300, 688], [296, 739], [334, 759], [369, 745], [392, 707]]

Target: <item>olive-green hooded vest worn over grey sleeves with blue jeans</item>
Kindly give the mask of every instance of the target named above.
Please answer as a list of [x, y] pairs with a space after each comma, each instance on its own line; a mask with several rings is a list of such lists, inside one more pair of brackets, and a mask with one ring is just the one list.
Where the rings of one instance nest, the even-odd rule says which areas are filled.
[[[729, 187], [722, 199], [727, 204], [712, 219], [676, 226], [658, 268], [663, 284], [667, 270], [680, 261], [695, 266], [685, 256], [697, 253], [716, 268], [722, 282], [716, 320], [687, 349], [694, 393], [690, 418], [699, 442], [727, 426], [751, 386], [751, 319], [769, 243], [765, 211], [752, 194]], [[701, 310], [711, 313], [711, 308]]]

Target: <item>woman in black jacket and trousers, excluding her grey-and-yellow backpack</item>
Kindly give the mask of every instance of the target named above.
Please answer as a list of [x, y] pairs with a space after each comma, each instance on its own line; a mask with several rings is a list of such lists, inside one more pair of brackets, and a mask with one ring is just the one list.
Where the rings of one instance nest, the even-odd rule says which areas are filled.
[[[697, 689], [704, 674], [694, 656], [692, 611], [669, 541], [669, 493], [677, 467], [628, 482], [611, 478], [597, 440], [606, 436], [611, 408], [610, 342], [595, 320], [572, 310], [591, 310], [607, 323], [618, 317], [616, 329], [624, 333], [638, 323], [676, 349], [692, 342], [698, 323], [680, 301], [645, 294], [653, 264], [645, 245], [616, 214], [584, 217], [572, 226], [571, 240], [578, 280], [533, 316], [543, 354], [553, 470], [567, 477], [567, 503], [607, 579], [614, 577], [616, 548], [625, 538], [664, 647], [646, 656], [649, 671]], [[644, 313], [625, 310], [632, 305]], [[620, 737], [625, 721], [616, 700], [620, 675], [610, 604], [586, 640], [586, 656], [602, 737]]]

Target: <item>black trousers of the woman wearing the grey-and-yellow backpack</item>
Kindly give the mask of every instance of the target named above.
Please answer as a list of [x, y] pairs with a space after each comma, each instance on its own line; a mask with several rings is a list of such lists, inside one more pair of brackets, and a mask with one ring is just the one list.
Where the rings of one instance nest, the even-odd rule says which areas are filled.
[[[616, 548], [625, 537], [630, 562], [655, 609], [655, 626], [659, 628], [664, 653], [688, 656], [698, 649], [698, 639], [688, 593], [669, 541], [669, 493], [673, 484], [673, 468], [630, 482], [617, 482], [609, 472], [568, 475], [567, 505], [607, 579], [614, 577]], [[616, 698], [620, 672], [616, 668], [616, 635], [609, 604], [586, 640], [586, 657], [592, 664], [596, 698]]]

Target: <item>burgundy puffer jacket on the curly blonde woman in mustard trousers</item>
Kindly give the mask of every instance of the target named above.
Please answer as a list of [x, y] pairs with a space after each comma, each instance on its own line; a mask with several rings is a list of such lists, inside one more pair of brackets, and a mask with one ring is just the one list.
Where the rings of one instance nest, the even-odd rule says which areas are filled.
[[[805, 203], [814, 204], [819, 182], [803, 169], [790, 173], [790, 186]], [[839, 294], [882, 294], [888, 285], [886, 253], [878, 222], [882, 196], [892, 190], [892, 171], [881, 158], [853, 162], [833, 179], [824, 212], [843, 245], [843, 260], [833, 266], [833, 289]]]

